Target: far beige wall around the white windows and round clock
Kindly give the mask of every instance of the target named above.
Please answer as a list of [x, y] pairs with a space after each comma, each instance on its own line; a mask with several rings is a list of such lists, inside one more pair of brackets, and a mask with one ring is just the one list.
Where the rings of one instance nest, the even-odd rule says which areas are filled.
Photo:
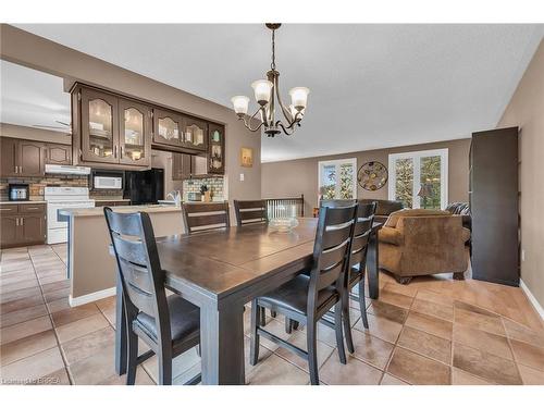
[[[379, 161], [387, 166], [390, 153], [444, 148], [448, 149], [448, 201], [468, 201], [470, 139], [262, 163], [262, 197], [297, 197], [304, 194], [305, 211], [309, 214], [318, 201], [318, 162], [321, 160], [355, 157], [357, 158], [357, 169], [368, 161]], [[387, 199], [387, 188], [386, 184], [376, 191], [367, 191], [358, 185], [357, 196], [359, 198]]]

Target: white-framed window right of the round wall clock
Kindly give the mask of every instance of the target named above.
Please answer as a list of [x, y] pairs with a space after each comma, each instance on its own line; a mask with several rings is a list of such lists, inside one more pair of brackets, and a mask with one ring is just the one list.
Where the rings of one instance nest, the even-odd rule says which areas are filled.
[[447, 149], [390, 154], [390, 200], [408, 208], [447, 205]]

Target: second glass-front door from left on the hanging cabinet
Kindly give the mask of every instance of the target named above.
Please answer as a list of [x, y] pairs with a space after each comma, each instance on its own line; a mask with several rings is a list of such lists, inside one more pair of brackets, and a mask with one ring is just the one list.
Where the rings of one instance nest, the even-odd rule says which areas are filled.
[[149, 165], [151, 151], [151, 110], [127, 99], [119, 100], [119, 161]]

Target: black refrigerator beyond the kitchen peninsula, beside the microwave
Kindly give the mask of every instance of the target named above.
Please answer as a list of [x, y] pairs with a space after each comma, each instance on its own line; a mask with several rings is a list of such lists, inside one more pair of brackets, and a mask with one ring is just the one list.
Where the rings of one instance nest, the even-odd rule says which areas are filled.
[[151, 169], [140, 172], [125, 172], [123, 198], [131, 205], [157, 203], [164, 199], [164, 170]]

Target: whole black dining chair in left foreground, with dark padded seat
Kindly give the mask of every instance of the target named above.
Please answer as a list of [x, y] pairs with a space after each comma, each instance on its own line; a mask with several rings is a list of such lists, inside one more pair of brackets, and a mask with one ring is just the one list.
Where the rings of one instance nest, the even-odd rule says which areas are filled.
[[[178, 295], [166, 297], [153, 227], [146, 212], [120, 213], [104, 207], [106, 222], [123, 288], [127, 333], [126, 384], [139, 363], [157, 355], [159, 384], [172, 384], [172, 359], [200, 344], [200, 309]], [[122, 325], [118, 330], [123, 330]], [[138, 355], [138, 337], [150, 348]], [[200, 374], [186, 384], [200, 382]]]

